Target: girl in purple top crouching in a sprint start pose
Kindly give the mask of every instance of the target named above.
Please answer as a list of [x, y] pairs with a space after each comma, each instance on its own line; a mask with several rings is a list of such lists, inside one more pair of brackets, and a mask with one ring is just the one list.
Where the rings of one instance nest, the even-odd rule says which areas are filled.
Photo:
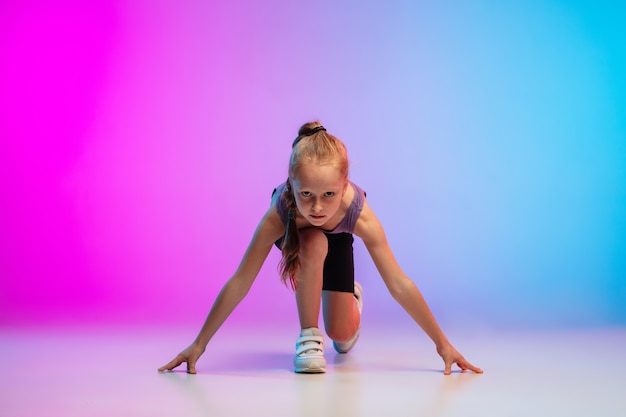
[[247, 294], [272, 246], [282, 250], [281, 279], [296, 293], [301, 332], [296, 340], [296, 372], [326, 370], [324, 338], [318, 328], [323, 306], [326, 334], [339, 353], [356, 343], [361, 325], [362, 289], [354, 282], [353, 234], [360, 237], [389, 292], [432, 339], [444, 362], [482, 373], [450, 344], [428, 305], [400, 269], [383, 228], [365, 200], [365, 192], [348, 179], [344, 144], [318, 122], [303, 125], [292, 145], [289, 178], [274, 190], [272, 204], [257, 226], [239, 268], [218, 295], [194, 342], [160, 372], [196, 362], [207, 344]]

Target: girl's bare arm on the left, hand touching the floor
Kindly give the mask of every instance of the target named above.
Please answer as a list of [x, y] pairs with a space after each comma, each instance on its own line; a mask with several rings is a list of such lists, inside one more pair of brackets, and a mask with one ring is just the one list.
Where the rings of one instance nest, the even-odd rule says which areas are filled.
[[226, 282], [213, 303], [213, 307], [194, 342], [167, 365], [160, 367], [159, 372], [171, 371], [186, 362], [187, 372], [190, 374], [196, 373], [198, 358], [204, 353], [215, 332], [246, 296], [272, 249], [272, 245], [284, 233], [285, 226], [278, 216], [275, 205], [272, 204], [257, 226], [237, 271]]

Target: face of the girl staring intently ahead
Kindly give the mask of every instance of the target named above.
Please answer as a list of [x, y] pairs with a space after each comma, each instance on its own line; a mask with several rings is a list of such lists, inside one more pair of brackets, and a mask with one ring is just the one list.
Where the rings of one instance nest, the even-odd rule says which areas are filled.
[[313, 226], [323, 226], [339, 210], [348, 182], [331, 164], [301, 166], [291, 180], [300, 214]]

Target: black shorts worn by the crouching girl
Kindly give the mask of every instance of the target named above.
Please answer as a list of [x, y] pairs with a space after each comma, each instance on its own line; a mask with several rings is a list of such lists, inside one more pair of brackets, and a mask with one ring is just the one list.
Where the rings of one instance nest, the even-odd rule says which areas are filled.
[[[328, 254], [324, 260], [322, 289], [354, 293], [354, 252], [351, 233], [324, 233], [328, 238]], [[276, 241], [280, 249], [283, 239]]]

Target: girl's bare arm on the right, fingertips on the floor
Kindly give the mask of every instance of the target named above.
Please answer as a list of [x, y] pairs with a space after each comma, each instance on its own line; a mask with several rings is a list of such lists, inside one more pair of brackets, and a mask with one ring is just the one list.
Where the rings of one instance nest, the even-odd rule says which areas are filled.
[[467, 362], [463, 355], [450, 344], [421, 292], [398, 265], [387, 243], [383, 227], [367, 202], [363, 206], [354, 233], [363, 239], [365, 247], [393, 298], [435, 343], [437, 352], [444, 360], [444, 374], [451, 373], [454, 363], [462, 370], [470, 369], [482, 373], [480, 368]]

